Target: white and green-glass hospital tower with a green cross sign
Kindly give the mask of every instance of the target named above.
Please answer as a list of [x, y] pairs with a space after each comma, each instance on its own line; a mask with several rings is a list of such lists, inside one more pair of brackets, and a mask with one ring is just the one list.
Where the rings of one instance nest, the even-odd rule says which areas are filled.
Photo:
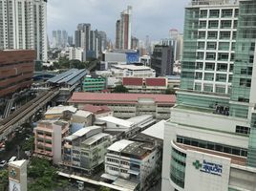
[[186, 7], [162, 191], [256, 189], [255, 17], [254, 0], [192, 0]]

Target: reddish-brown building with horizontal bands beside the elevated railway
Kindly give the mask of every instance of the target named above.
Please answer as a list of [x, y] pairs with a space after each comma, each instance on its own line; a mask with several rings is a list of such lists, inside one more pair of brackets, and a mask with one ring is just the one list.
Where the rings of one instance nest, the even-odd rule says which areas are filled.
[[0, 51], [0, 97], [32, 85], [35, 52]]

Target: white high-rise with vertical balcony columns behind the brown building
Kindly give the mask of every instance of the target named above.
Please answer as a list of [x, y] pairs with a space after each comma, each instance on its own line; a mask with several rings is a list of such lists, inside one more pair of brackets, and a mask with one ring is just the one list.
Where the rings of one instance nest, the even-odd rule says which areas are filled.
[[47, 60], [47, 0], [0, 0], [0, 49], [31, 49]]

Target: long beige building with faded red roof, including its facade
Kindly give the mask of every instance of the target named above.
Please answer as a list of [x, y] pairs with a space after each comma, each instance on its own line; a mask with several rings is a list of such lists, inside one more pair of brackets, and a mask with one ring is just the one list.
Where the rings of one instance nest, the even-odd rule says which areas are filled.
[[153, 115], [168, 119], [175, 101], [174, 95], [74, 93], [69, 103], [79, 109], [86, 104], [106, 105], [119, 118]]

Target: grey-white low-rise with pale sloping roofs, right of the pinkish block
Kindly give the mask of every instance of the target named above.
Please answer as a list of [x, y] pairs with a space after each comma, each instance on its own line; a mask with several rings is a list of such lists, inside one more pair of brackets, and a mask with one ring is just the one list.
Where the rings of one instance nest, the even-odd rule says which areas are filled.
[[111, 136], [98, 126], [82, 128], [64, 140], [63, 164], [87, 173], [104, 162], [111, 144]]

